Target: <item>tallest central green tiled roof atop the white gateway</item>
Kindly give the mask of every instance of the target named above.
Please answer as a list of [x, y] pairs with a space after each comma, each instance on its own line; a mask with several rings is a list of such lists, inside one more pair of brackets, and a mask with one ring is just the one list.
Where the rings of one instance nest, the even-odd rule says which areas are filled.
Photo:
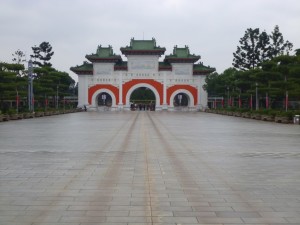
[[162, 55], [166, 51], [166, 48], [156, 46], [156, 40], [130, 40], [130, 46], [120, 48], [121, 52], [125, 55], [127, 54], [151, 54], [151, 55]]

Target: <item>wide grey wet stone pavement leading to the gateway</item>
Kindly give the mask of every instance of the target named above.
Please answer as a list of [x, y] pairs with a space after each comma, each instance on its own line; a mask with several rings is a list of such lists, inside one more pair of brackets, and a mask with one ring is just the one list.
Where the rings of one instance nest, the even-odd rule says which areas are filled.
[[199, 112], [0, 123], [0, 224], [299, 225], [299, 138]]

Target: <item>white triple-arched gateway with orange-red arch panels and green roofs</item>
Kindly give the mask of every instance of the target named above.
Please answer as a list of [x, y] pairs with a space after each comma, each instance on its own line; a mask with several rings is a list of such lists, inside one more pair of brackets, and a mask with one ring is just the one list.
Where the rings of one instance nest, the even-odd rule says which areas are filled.
[[[205, 77], [214, 68], [196, 64], [200, 56], [187, 46], [174, 47], [173, 54], [156, 46], [155, 39], [134, 40], [120, 49], [128, 61], [113, 53], [112, 47], [98, 46], [95, 54], [86, 55], [91, 62], [71, 67], [78, 75], [78, 106], [89, 109], [108, 106], [111, 110], [129, 110], [130, 96], [137, 88], [148, 88], [155, 95], [156, 110], [204, 110], [207, 93]], [[106, 98], [109, 102], [105, 102]]]

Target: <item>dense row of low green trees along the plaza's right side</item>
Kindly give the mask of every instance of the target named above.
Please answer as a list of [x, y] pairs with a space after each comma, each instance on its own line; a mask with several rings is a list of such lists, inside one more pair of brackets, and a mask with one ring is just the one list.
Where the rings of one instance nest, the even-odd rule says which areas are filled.
[[204, 88], [210, 97], [239, 97], [244, 106], [250, 107], [258, 87], [262, 107], [266, 106], [268, 96], [269, 107], [277, 109], [282, 109], [288, 93], [290, 107], [300, 108], [300, 50], [296, 49], [295, 53], [293, 56], [280, 53], [271, 60], [263, 61], [255, 69], [243, 71], [229, 68], [220, 75], [210, 74], [206, 77]]

